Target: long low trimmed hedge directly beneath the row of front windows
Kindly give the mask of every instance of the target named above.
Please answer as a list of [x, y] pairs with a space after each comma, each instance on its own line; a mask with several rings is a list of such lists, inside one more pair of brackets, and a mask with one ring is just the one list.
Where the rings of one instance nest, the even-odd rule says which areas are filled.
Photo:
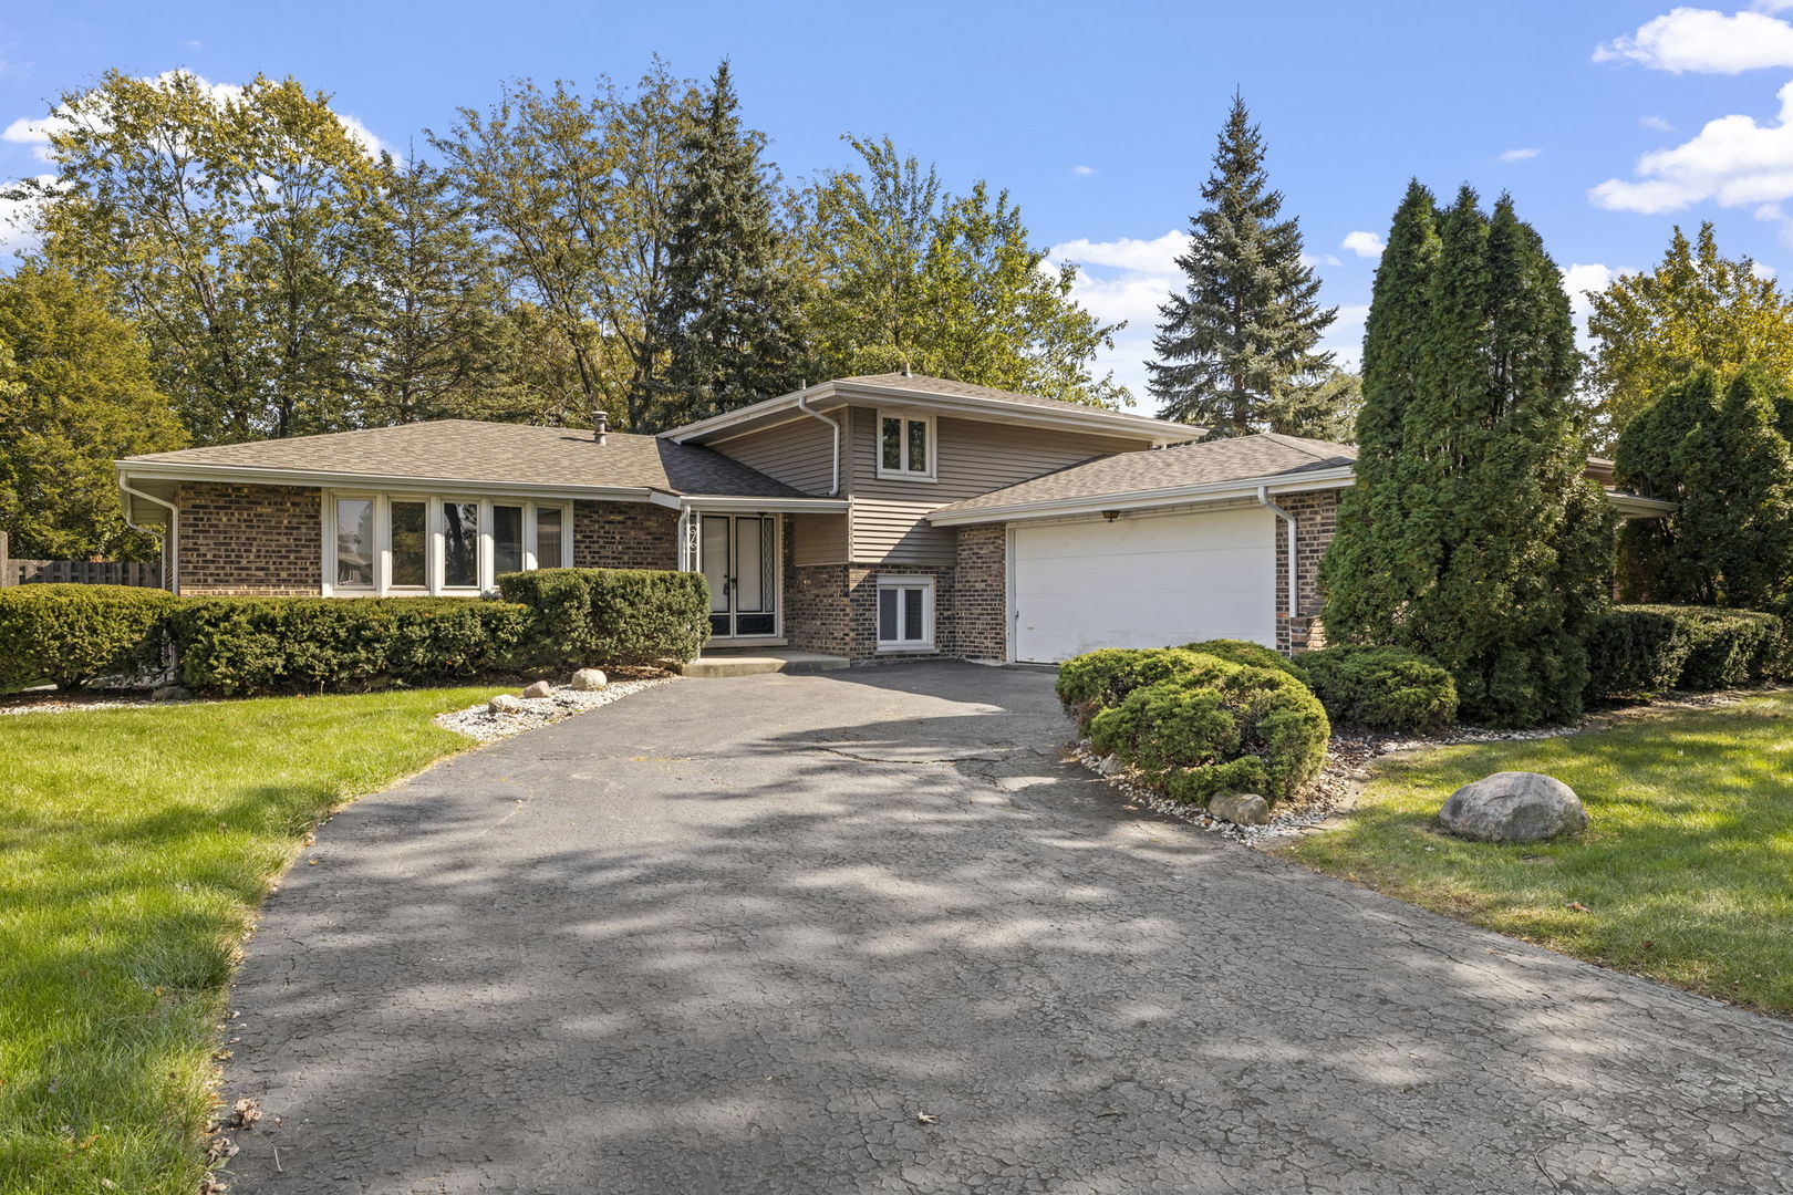
[[531, 611], [477, 598], [188, 598], [169, 616], [181, 684], [215, 695], [359, 692], [515, 668]]

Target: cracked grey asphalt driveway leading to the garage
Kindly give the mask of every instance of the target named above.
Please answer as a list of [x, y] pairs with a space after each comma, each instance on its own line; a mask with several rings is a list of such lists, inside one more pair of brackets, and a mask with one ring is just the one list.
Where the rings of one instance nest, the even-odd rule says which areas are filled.
[[1793, 1027], [1067, 735], [1040, 672], [680, 681], [357, 803], [231, 1000], [233, 1191], [1793, 1190]]

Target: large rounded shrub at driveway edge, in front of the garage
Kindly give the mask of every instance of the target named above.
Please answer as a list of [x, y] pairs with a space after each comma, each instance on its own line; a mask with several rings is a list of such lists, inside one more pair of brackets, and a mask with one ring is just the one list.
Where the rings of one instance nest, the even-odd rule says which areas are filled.
[[1217, 792], [1291, 795], [1320, 772], [1327, 713], [1296, 677], [1189, 652], [1198, 675], [1133, 688], [1090, 722], [1097, 751], [1151, 772], [1180, 801]]

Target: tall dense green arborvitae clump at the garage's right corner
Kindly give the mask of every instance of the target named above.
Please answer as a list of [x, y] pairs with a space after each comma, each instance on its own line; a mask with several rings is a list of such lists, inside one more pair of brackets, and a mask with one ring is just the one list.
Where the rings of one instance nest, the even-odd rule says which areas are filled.
[[1327, 632], [1431, 656], [1470, 718], [1574, 717], [1612, 516], [1585, 478], [1569, 301], [1506, 197], [1490, 220], [1465, 188], [1436, 240], [1433, 220], [1409, 188], [1377, 272]]

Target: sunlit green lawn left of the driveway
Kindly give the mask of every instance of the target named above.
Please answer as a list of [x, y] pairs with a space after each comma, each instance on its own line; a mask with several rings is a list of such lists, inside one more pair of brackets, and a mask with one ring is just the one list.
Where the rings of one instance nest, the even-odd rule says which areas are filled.
[[0, 1191], [199, 1190], [235, 951], [305, 833], [491, 688], [0, 718]]

